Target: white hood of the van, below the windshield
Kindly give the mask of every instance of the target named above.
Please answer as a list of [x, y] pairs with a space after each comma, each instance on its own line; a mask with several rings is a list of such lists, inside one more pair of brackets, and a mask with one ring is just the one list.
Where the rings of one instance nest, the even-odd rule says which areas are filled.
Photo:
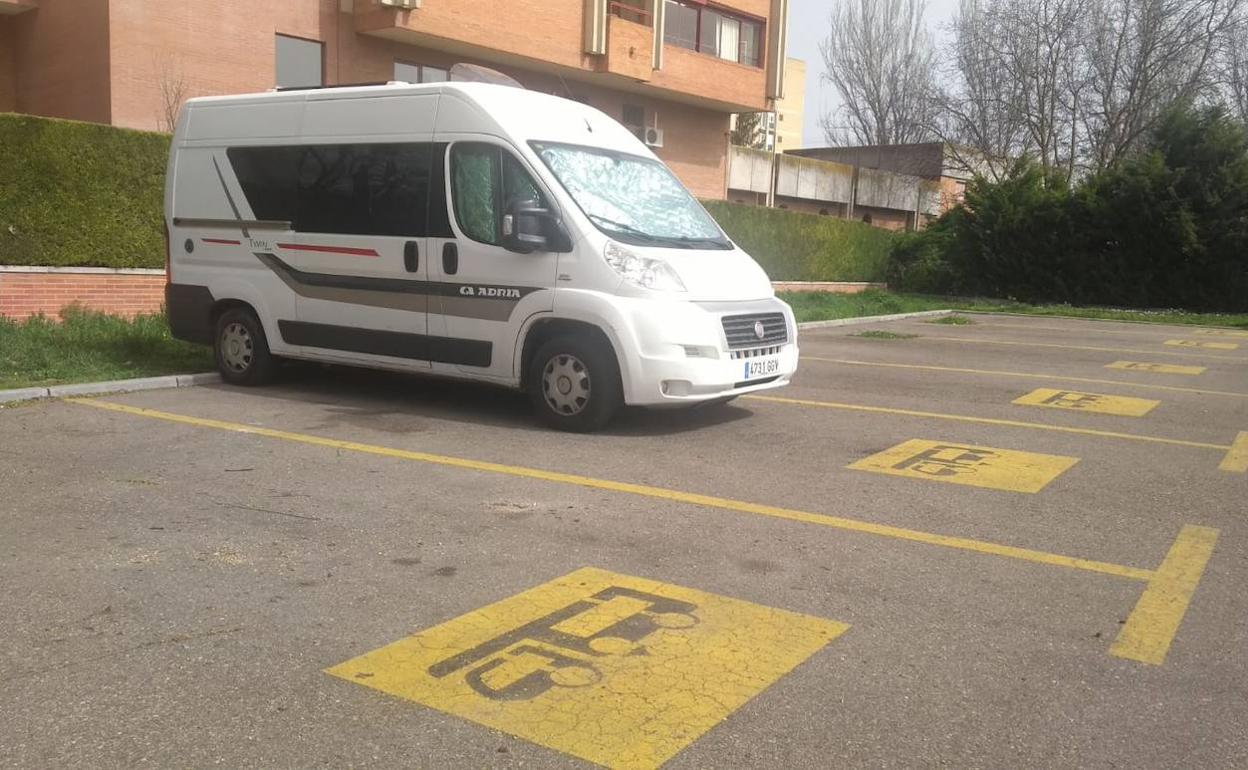
[[771, 280], [750, 255], [738, 247], [653, 248], [629, 246], [644, 257], [663, 260], [676, 271], [689, 291], [688, 298], [699, 302], [768, 300], [775, 296]]

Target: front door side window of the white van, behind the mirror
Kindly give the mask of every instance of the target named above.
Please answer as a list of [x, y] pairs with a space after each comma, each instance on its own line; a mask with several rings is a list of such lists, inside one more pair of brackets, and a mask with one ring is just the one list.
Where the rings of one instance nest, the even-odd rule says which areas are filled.
[[502, 243], [502, 216], [517, 201], [545, 206], [529, 172], [497, 145], [459, 142], [451, 149], [451, 196], [456, 221], [466, 236]]

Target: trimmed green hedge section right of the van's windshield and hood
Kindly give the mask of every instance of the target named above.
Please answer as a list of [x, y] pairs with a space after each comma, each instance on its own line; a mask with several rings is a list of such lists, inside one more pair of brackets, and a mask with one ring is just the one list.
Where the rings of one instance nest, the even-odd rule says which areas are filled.
[[703, 201], [773, 281], [884, 281], [896, 236], [862, 222]]

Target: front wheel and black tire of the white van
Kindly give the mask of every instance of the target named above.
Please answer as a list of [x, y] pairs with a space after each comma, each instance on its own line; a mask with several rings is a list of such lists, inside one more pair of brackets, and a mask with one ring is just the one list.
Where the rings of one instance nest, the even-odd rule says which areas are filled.
[[555, 337], [533, 354], [529, 399], [552, 428], [588, 433], [610, 422], [624, 403], [619, 364], [605, 341]]

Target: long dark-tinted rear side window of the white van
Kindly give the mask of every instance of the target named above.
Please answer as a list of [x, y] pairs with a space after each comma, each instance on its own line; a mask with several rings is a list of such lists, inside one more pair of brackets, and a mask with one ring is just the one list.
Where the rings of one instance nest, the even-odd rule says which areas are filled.
[[[426, 237], [434, 152], [444, 145], [305, 145], [226, 151], [257, 220], [297, 232]], [[437, 222], [446, 215], [433, 215]], [[439, 227], [441, 230], [441, 227]], [[438, 235], [438, 233], [434, 233]]]

